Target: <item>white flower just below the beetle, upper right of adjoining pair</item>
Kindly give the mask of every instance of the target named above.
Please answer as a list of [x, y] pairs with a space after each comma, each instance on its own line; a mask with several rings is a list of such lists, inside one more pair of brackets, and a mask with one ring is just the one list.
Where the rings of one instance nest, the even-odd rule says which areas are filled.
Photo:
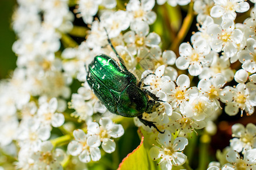
[[119, 138], [125, 132], [122, 125], [115, 125], [108, 117], [102, 117], [100, 119], [99, 126], [96, 122], [90, 122], [88, 124], [88, 134], [97, 135], [99, 142], [102, 142], [101, 147], [107, 153], [115, 151], [115, 142], [112, 138]]

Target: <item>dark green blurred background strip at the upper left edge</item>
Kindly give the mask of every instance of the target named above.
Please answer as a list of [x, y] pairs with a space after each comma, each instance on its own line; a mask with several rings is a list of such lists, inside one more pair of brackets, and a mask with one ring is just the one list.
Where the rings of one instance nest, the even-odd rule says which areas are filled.
[[11, 29], [11, 15], [15, 0], [0, 0], [0, 79], [8, 78], [16, 67], [16, 56], [11, 49], [15, 33]]

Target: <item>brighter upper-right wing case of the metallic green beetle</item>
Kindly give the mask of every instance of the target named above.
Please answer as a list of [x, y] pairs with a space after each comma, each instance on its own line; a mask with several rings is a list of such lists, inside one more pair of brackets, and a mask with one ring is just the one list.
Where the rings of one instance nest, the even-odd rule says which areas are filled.
[[105, 54], [94, 58], [89, 65], [89, 73], [93, 74], [109, 90], [122, 92], [130, 83], [137, 84], [137, 78], [116, 61]]

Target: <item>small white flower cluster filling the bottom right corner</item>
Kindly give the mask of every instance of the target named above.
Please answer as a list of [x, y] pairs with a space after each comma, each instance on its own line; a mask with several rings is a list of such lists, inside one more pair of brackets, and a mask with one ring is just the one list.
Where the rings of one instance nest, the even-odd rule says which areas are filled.
[[230, 141], [230, 146], [226, 147], [225, 151], [217, 155], [220, 162], [211, 162], [207, 170], [256, 168], [256, 126], [247, 124], [245, 128], [242, 124], [234, 124], [232, 133], [236, 138]]

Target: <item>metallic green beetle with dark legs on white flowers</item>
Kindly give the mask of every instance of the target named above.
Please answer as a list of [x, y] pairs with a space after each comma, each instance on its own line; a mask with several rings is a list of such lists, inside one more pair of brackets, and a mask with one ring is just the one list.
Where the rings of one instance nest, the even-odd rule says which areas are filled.
[[[106, 34], [108, 36], [108, 32]], [[154, 112], [161, 100], [150, 91], [142, 89], [144, 78], [138, 81], [136, 76], [126, 69], [109, 37], [108, 42], [119, 61], [105, 54], [94, 57], [94, 61], [88, 66], [86, 77], [90, 88], [110, 112], [124, 117], [138, 117], [144, 125], [150, 128], [153, 126], [159, 133], [164, 133], [156, 127], [155, 122], [142, 118], [144, 112]]]

